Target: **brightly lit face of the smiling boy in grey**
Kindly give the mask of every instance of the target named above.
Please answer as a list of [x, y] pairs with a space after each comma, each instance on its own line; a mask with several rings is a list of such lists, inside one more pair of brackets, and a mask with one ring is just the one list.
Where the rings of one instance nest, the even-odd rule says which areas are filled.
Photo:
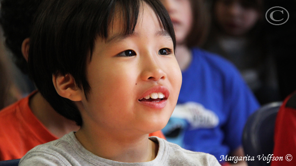
[[118, 18], [114, 17], [106, 42], [97, 39], [87, 66], [91, 90], [88, 100], [78, 104], [82, 128], [118, 134], [161, 130], [176, 106], [182, 83], [173, 41], [146, 4], [134, 34], [122, 35]]

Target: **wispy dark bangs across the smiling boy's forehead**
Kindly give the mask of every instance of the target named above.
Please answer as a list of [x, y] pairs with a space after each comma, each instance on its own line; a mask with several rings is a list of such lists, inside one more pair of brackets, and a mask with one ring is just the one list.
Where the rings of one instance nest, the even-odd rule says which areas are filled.
[[[144, 10], [144, 2], [152, 8], [154, 14], [157, 16], [159, 26], [163, 31], [169, 33], [173, 40], [174, 49], [176, 46], [176, 38], [173, 25], [170, 21], [170, 17], [165, 11], [164, 6], [158, 0], [111, 0], [110, 7], [107, 9], [106, 18], [103, 22], [103, 26], [97, 32], [97, 36], [104, 39], [108, 39], [109, 34], [112, 31], [114, 19], [120, 20], [122, 25], [123, 35], [133, 34], [135, 27], [138, 23], [140, 10]], [[156, 3], [156, 4], [155, 4]], [[158, 3], [158, 4], [157, 4]], [[90, 49], [93, 50], [93, 49]]]

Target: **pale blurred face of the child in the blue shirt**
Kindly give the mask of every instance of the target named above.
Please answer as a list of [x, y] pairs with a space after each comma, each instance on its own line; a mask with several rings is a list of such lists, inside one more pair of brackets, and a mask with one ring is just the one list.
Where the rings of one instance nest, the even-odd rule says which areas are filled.
[[176, 34], [177, 44], [184, 44], [192, 27], [190, 0], [160, 0], [170, 14]]

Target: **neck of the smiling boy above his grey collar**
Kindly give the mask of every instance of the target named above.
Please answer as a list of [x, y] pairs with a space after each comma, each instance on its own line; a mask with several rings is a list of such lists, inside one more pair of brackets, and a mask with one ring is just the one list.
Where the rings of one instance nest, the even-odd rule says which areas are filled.
[[149, 140], [148, 134], [128, 136], [128, 133], [122, 134], [121, 131], [111, 133], [89, 129], [82, 126], [75, 136], [85, 149], [104, 159], [141, 163], [152, 161], [157, 155], [158, 144]]

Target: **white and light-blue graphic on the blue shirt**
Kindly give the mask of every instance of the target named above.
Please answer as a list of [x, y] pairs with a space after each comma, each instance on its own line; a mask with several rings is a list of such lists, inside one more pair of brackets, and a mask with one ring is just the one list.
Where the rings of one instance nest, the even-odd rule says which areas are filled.
[[217, 127], [218, 124], [219, 118], [216, 113], [206, 109], [200, 103], [186, 102], [177, 104], [162, 132], [168, 141], [182, 146], [186, 130], [211, 129]]

